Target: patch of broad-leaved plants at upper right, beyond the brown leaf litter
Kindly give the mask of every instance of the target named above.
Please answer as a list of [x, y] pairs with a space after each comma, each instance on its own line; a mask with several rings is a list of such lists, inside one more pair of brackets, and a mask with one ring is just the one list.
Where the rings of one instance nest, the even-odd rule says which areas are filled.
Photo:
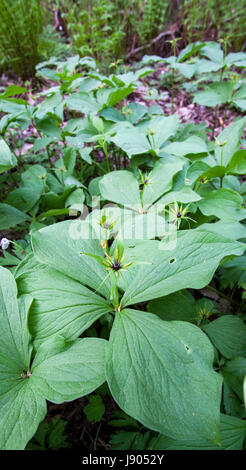
[[[145, 55], [140, 65], [166, 66], [167, 73], [158, 75], [154, 85], [172, 90], [172, 112], [174, 110], [174, 92], [181, 87], [191, 97], [193, 103], [212, 108], [214, 127], [217, 125], [219, 111], [223, 111], [223, 122], [230, 109], [246, 110], [246, 68], [245, 52], [230, 52], [228, 38], [214, 41], [191, 43], [177, 54], [179, 38], [171, 41], [172, 56], [162, 58]], [[158, 68], [157, 68], [158, 71]], [[162, 72], [163, 73], [163, 72]], [[152, 97], [159, 97], [154, 87]]]

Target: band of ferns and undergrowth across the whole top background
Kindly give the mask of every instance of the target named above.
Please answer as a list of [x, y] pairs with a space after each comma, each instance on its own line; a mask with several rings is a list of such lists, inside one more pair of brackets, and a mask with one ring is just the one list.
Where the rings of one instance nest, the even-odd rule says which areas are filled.
[[139, 50], [166, 54], [180, 34], [180, 48], [208, 36], [245, 47], [243, 0], [230, 8], [217, 0], [1, 0], [0, 10], [0, 65], [22, 79], [40, 61], [71, 54], [90, 55], [108, 72]]

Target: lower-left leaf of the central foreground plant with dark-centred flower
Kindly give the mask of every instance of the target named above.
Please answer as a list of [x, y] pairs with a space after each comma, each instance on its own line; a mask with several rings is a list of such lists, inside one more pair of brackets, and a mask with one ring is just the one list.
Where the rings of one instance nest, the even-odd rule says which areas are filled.
[[102, 297], [66, 274], [38, 263], [33, 255], [19, 265], [15, 277], [19, 293], [35, 298], [29, 314], [35, 345], [58, 333], [75, 339], [111, 311]]

